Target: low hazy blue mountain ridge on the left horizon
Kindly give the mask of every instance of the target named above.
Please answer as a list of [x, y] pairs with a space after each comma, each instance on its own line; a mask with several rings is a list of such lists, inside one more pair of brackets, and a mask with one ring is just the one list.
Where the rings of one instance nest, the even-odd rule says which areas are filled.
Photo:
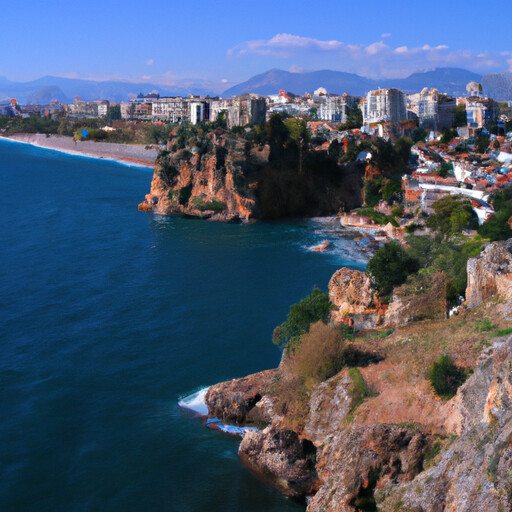
[[43, 104], [52, 100], [71, 103], [75, 96], [80, 96], [84, 101], [127, 101], [130, 96], [151, 91], [158, 91], [161, 96], [215, 95], [215, 90], [208, 87], [206, 82], [192, 80], [174, 87], [147, 82], [97, 82], [56, 76], [45, 76], [30, 82], [11, 82], [0, 77], [0, 98], [16, 98], [22, 105]]

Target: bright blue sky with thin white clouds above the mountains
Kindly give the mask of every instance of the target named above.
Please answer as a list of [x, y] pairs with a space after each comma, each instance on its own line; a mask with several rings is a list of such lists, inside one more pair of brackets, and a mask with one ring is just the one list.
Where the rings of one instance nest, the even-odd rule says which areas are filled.
[[512, 71], [512, 2], [2, 2], [0, 76], [226, 87], [272, 68]]

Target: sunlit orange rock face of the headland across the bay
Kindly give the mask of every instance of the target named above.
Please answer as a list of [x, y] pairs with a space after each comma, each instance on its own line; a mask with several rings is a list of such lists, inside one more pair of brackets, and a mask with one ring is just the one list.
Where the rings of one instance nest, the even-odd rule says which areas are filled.
[[248, 179], [248, 160], [257, 168], [268, 159], [268, 148], [248, 155], [236, 138], [216, 132], [203, 147], [161, 153], [151, 191], [139, 210], [222, 221], [248, 221], [258, 216], [256, 183]]

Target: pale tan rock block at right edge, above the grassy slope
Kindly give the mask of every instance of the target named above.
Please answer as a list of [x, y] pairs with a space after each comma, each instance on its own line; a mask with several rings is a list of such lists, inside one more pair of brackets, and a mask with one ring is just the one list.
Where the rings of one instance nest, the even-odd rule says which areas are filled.
[[474, 308], [490, 297], [512, 301], [512, 238], [488, 244], [468, 260], [466, 305]]

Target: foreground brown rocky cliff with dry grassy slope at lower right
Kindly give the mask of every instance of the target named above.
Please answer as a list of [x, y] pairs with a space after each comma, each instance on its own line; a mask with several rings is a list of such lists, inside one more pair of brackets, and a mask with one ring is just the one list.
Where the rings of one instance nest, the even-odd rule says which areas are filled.
[[[512, 311], [511, 242], [469, 260], [458, 317], [444, 319], [442, 274], [430, 286], [403, 285], [395, 295], [404, 313], [380, 315], [403, 326], [346, 342], [347, 366], [318, 385], [283, 387], [292, 354], [275, 370], [212, 386], [211, 415], [264, 427], [242, 440], [242, 462], [281, 492], [309, 496], [308, 512], [512, 510], [512, 335], [503, 329]], [[476, 283], [486, 283], [485, 294]], [[424, 294], [413, 291], [422, 286], [416, 318]], [[364, 274], [341, 269], [329, 291], [334, 318], [379, 318]], [[450, 400], [428, 380], [443, 353], [469, 375]]]

